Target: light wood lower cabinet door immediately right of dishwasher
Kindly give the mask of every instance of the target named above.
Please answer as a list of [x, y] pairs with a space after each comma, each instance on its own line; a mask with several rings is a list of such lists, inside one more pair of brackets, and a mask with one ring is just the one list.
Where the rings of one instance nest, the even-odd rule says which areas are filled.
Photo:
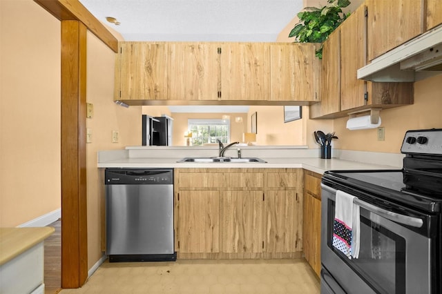
[[220, 252], [220, 195], [216, 190], [180, 190], [178, 248], [182, 253]]

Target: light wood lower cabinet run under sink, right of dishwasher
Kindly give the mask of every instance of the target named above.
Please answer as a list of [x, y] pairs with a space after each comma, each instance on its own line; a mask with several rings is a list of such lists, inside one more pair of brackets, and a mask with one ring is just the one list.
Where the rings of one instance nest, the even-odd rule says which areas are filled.
[[179, 258], [302, 256], [302, 169], [175, 168]]

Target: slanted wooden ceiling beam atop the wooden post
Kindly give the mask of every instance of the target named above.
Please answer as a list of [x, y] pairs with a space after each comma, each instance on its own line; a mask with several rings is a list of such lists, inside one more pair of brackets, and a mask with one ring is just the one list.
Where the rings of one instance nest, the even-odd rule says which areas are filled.
[[118, 40], [78, 0], [34, 0], [59, 21], [81, 21], [98, 39], [113, 52], [118, 52]]

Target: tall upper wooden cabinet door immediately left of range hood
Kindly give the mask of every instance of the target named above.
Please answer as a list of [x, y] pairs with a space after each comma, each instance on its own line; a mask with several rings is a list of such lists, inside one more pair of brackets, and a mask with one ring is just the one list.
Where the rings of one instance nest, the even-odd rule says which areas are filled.
[[340, 26], [340, 110], [365, 105], [367, 82], [356, 77], [366, 63], [366, 6], [360, 6]]

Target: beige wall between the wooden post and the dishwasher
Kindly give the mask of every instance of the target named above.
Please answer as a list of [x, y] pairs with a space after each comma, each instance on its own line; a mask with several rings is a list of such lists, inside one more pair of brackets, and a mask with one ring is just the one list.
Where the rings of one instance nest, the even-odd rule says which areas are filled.
[[[86, 119], [93, 131], [86, 144], [88, 205], [88, 268], [102, 257], [104, 247], [104, 171], [97, 168], [97, 151], [141, 145], [141, 106], [124, 108], [113, 103], [115, 53], [95, 35], [87, 36], [86, 101], [93, 104], [93, 118]], [[112, 143], [112, 131], [119, 142]]]

